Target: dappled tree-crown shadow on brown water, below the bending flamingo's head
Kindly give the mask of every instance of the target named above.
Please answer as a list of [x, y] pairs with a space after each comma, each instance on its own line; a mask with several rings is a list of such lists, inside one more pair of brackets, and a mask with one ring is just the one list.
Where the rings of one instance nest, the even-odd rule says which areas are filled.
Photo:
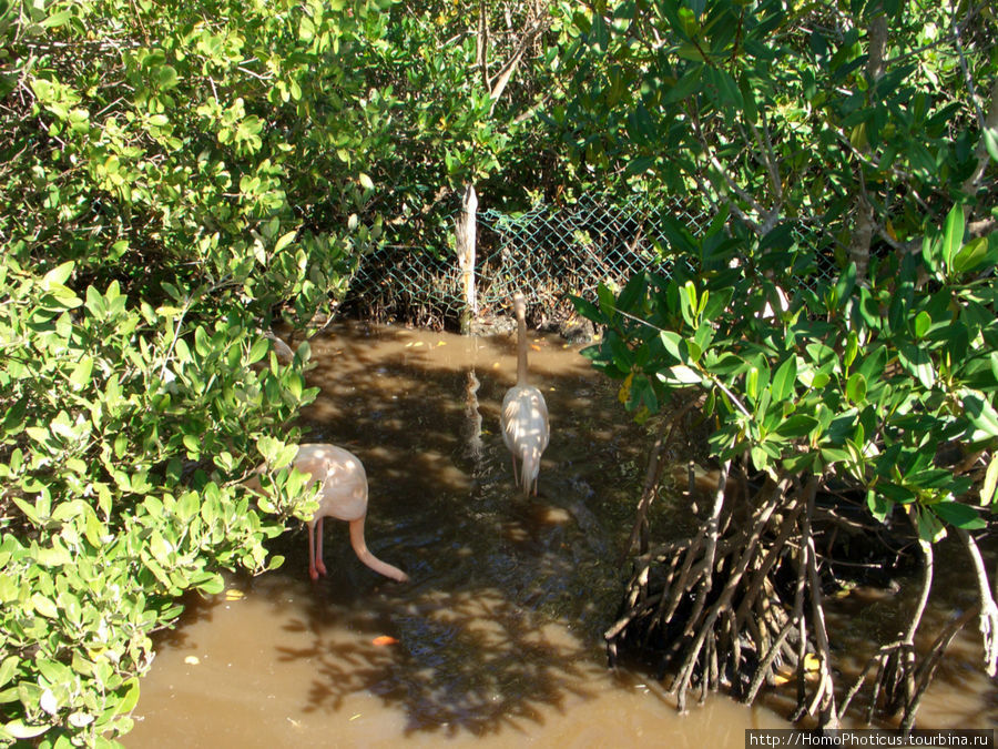
[[323, 600], [307, 620], [288, 623], [312, 637], [306, 647], [276, 648], [281, 660], [314, 664], [304, 712], [336, 712], [349, 695], [369, 692], [405, 712], [407, 735], [485, 736], [542, 725], [544, 711], [561, 711], [570, 696], [594, 696], [583, 686], [598, 668], [591, 649], [498, 590], [415, 598], [397, 601], [390, 645], [375, 645], [386, 629], [376, 613], [344, 611], [337, 620]]

